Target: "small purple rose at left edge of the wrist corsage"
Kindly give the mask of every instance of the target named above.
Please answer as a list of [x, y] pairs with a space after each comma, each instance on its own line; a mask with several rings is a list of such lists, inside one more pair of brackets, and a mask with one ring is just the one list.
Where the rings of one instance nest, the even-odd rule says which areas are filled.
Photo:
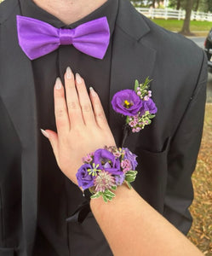
[[89, 164], [84, 164], [78, 169], [76, 174], [77, 183], [83, 189], [89, 189], [89, 187], [94, 185], [95, 177], [89, 175], [88, 169], [92, 169], [92, 167]]

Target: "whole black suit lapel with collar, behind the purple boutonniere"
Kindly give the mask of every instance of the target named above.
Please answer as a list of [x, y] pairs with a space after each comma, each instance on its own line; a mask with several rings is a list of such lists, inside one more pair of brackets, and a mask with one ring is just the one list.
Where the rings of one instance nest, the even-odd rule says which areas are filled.
[[[147, 76], [152, 78], [156, 50], [148, 46], [146, 35], [149, 26], [127, 0], [119, 0], [117, 21], [113, 34], [112, 72], [110, 101], [118, 90], [134, 90], [135, 79], [143, 82]], [[125, 118], [115, 113], [110, 104], [109, 122], [117, 146], [123, 139]]]

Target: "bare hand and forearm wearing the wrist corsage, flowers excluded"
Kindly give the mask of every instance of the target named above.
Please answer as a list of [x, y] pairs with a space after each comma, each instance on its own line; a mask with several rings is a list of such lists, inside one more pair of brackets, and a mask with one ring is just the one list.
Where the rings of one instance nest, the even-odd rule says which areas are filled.
[[[57, 133], [43, 131], [49, 138], [62, 172], [77, 184], [76, 172], [82, 157], [97, 148], [115, 145], [112, 132], [95, 90], [88, 95], [83, 79], [70, 68], [54, 85]], [[76, 143], [77, 142], [77, 143]], [[156, 212], [134, 189], [118, 187], [112, 202], [92, 199], [91, 210], [116, 256], [203, 255], [172, 224]]]

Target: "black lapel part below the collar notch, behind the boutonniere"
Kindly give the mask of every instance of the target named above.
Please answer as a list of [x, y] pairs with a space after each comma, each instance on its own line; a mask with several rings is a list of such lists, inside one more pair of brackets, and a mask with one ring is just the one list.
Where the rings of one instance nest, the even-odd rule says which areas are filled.
[[[143, 82], [146, 77], [152, 78], [156, 60], [156, 51], [129, 37], [122, 29], [116, 27], [112, 49], [112, 73], [110, 84], [110, 101], [118, 90], [134, 90], [135, 79]], [[109, 123], [117, 146], [120, 147], [126, 139], [123, 132], [125, 117], [115, 113], [110, 102]]]

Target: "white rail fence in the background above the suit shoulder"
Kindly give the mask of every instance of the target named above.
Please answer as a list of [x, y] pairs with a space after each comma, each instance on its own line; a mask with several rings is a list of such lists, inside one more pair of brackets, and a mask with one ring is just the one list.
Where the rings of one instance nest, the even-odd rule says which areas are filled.
[[[185, 10], [176, 10], [176, 9], [153, 9], [153, 8], [136, 8], [140, 13], [146, 15], [146, 17], [154, 18], [163, 18], [168, 19], [177, 19], [184, 20], [186, 16]], [[191, 20], [207, 20], [212, 21], [212, 14], [193, 12], [191, 15]]]

